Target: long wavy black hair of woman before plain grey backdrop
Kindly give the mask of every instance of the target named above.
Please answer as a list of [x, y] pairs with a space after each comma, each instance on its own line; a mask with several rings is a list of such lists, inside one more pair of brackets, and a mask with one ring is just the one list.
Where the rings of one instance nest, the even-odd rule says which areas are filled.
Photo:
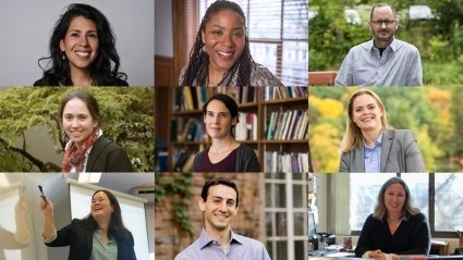
[[[115, 39], [106, 16], [96, 8], [83, 3], [72, 3], [54, 25], [49, 42], [50, 57], [38, 59], [38, 65], [44, 71], [44, 77], [34, 85], [72, 86], [71, 71], [68, 60], [62, 59], [60, 41], [64, 39], [73, 18], [83, 16], [95, 23], [98, 34], [99, 51], [90, 64], [90, 76], [95, 86], [126, 86], [127, 75], [119, 72], [120, 59], [115, 50]], [[42, 60], [51, 60], [51, 67], [42, 67]]]

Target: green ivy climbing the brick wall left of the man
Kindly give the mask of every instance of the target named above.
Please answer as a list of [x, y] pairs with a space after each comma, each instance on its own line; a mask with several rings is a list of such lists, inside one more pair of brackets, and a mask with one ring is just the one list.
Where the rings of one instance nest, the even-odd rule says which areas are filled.
[[173, 216], [180, 228], [193, 235], [193, 225], [188, 216], [190, 198], [192, 196], [193, 174], [165, 175], [156, 173], [155, 176], [155, 203], [169, 198], [173, 201]]

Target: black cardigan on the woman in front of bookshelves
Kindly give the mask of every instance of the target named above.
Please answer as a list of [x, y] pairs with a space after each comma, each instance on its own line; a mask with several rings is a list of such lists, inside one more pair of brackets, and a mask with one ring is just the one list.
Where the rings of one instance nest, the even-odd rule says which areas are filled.
[[[205, 149], [196, 154], [193, 162], [193, 172], [198, 172], [199, 161], [204, 154], [207, 156], [208, 150], [209, 149]], [[216, 170], [211, 169], [208, 172], [216, 172]], [[254, 152], [252, 147], [245, 144], [241, 144], [237, 147], [234, 172], [260, 172], [259, 160], [257, 159], [256, 152]]]

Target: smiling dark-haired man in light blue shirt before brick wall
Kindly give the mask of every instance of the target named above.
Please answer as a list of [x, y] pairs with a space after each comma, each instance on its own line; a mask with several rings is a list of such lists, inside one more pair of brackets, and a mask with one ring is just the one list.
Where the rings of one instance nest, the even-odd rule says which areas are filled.
[[203, 187], [199, 209], [205, 225], [199, 237], [176, 255], [175, 260], [270, 260], [264, 245], [235, 234], [231, 221], [237, 213], [236, 185], [226, 178], [214, 178]]

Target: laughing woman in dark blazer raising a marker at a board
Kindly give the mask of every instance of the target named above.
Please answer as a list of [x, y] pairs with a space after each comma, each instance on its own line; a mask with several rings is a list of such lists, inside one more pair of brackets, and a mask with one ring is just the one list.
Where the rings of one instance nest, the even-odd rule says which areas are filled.
[[57, 231], [53, 203], [45, 196], [39, 201], [44, 213], [42, 236], [49, 247], [70, 246], [69, 260], [135, 260], [132, 233], [124, 227], [115, 196], [100, 189], [92, 196], [90, 213], [74, 219]]

